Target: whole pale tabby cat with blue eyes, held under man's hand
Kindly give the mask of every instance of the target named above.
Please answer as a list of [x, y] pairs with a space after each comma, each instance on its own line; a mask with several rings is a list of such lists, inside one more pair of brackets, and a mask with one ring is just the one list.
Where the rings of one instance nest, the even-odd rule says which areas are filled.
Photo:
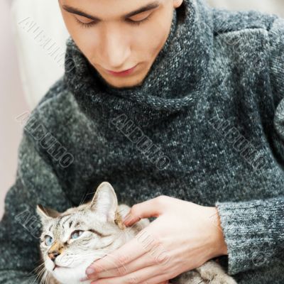
[[[126, 227], [122, 219], [129, 212], [126, 204], [117, 204], [109, 182], [102, 182], [92, 201], [63, 213], [38, 205], [43, 224], [40, 251], [43, 263], [40, 278], [48, 284], [89, 284], [81, 282], [87, 267], [137, 236], [150, 224], [141, 219]], [[236, 284], [215, 261], [182, 273], [173, 284]]]

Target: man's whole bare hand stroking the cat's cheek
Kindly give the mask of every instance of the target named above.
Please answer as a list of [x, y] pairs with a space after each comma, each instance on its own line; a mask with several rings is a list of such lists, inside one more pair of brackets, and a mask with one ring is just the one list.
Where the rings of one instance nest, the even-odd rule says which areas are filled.
[[[133, 205], [124, 224], [157, 217], [135, 238], [94, 261], [97, 284], [168, 283], [185, 271], [227, 253], [216, 207], [161, 195]], [[89, 268], [87, 272], [89, 272]]]

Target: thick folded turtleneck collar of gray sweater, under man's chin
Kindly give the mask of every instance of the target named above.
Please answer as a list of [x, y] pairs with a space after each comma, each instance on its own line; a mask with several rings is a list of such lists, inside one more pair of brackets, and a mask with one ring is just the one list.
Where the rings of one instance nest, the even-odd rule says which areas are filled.
[[212, 51], [211, 9], [204, 0], [184, 0], [174, 9], [168, 39], [158, 53], [143, 84], [114, 88], [107, 84], [68, 38], [64, 80], [86, 114], [101, 117], [120, 111], [141, 124], [192, 107], [206, 94]]

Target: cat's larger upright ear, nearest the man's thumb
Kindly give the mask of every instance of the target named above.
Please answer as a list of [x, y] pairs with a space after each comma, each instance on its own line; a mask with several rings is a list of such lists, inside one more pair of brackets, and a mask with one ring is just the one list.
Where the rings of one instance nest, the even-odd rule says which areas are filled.
[[117, 197], [109, 182], [102, 182], [98, 187], [90, 204], [92, 211], [102, 215], [104, 221], [114, 222], [116, 218]]

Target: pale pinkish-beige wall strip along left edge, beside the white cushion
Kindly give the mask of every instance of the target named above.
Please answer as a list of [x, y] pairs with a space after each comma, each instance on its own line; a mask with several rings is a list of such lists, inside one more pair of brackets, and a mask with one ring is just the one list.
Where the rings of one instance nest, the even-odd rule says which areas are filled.
[[19, 77], [9, 5], [8, 0], [0, 1], [0, 218], [4, 211], [4, 195], [16, 178], [22, 131], [16, 117], [28, 111]]

